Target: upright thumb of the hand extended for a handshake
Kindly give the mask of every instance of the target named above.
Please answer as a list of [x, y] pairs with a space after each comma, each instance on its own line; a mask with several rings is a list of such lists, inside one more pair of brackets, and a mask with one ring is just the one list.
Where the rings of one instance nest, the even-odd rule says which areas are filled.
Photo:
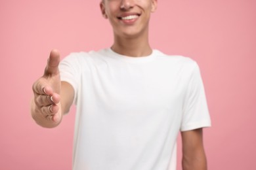
[[60, 52], [52, 50], [45, 67], [45, 75], [55, 75], [58, 73], [58, 64], [60, 63]]

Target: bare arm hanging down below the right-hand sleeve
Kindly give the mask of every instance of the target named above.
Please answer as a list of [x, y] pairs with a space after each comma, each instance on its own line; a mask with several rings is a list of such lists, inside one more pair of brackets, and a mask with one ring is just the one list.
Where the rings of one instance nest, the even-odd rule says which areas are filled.
[[202, 128], [183, 131], [181, 137], [183, 170], [207, 170]]

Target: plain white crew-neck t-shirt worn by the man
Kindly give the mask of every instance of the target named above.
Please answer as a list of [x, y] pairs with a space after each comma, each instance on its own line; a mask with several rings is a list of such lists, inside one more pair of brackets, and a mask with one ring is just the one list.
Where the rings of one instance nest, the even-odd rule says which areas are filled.
[[190, 58], [107, 48], [70, 54], [60, 74], [75, 91], [74, 170], [173, 170], [179, 131], [211, 126]]

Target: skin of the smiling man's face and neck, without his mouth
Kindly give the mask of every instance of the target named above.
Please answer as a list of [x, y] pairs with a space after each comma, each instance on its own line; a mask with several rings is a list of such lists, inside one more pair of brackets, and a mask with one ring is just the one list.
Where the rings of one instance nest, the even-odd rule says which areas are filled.
[[[114, 31], [112, 50], [132, 57], [148, 56], [152, 48], [148, 42], [150, 14], [158, 7], [156, 0], [104, 0], [100, 3], [102, 16], [110, 21]], [[124, 24], [117, 17], [140, 14], [135, 24]]]

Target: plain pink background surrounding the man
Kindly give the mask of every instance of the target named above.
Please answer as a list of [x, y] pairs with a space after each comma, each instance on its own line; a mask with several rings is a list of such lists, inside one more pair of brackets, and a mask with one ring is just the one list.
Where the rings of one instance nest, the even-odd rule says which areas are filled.
[[[72, 169], [75, 107], [55, 129], [37, 126], [30, 116], [32, 84], [52, 48], [64, 58], [112, 44], [98, 4], [0, 1], [0, 169]], [[154, 48], [200, 65], [213, 122], [204, 131], [209, 169], [253, 169], [256, 1], [162, 0], [150, 26]]]

